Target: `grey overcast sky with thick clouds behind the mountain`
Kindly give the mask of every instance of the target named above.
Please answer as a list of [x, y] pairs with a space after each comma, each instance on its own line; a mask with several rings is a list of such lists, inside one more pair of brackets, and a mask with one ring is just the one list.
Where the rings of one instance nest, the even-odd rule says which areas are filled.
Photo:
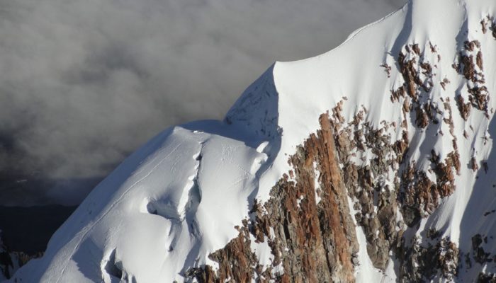
[[0, 0], [0, 204], [77, 204], [157, 132], [221, 119], [272, 62], [403, 4]]

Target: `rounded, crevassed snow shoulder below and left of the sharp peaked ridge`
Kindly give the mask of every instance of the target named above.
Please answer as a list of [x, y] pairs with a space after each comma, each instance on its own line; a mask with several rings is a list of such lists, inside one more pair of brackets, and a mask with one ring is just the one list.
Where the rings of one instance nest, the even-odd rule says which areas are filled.
[[113, 282], [117, 275], [129, 282], [180, 280], [184, 270], [208, 263], [209, 253], [237, 235], [233, 227], [246, 214], [266, 159], [220, 134], [169, 129], [98, 185], [57, 231], [46, 255], [16, 277], [31, 282]]

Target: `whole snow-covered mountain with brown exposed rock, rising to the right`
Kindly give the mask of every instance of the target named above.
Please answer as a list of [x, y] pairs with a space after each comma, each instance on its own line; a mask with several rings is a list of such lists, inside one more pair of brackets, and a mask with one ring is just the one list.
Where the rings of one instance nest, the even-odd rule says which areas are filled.
[[127, 158], [11, 282], [496, 280], [495, 17], [412, 0], [277, 62]]

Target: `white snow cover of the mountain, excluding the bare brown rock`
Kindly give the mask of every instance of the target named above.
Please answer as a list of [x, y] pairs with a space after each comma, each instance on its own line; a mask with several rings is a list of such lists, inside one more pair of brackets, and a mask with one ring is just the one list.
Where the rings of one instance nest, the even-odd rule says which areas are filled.
[[[422, 128], [415, 119], [407, 120], [409, 160], [428, 172], [431, 151], [444, 160], [456, 137], [461, 172], [454, 180], [453, 195], [424, 217], [419, 229], [405, 226], [405, 235], [422, 238], [422, 231], [436, 229], [463, 253], [470, 253], [473, 235], [496, 235], [496, 218], [483, 216], [496, 209], [492, 187], [496, 184], [492, 174], [496, 103], [488, 100], [487, 113], [472, 109], [464, 120], [454, 97], [467, 93], [470, 83], [451, 65], [457, 62], [463, 42], [478, 40], [485, 62], [484, 85], [488, 93], [496, 93], [496, 38], [491, 30], [483, 33], [480, 23], [487, 15], [496, 16], [493, 0], [413, 0], [356, 31], [330, 52], [298, 62], [277, 62], [247, 88], [225, 121], [172, 127], [128, 157], [55, 233], [45, 256], [22, 267], [15, 278], [24, 282], [182, 282], [190, 267], [215, 267], [208, 255], [237, 236], [234, 226], [249, 217], [255, 197], [269, 200], [271, 187], [291, 169], [287, 155], [320, 128], [322, 113], [343, 100], [344, 122], [366, 108], [365, 118], [373, 127], [381, 127], [382, 121], [402, 124], [401, 105], [391, 103], [390, 96], [391, 90], [405, 83], [398, 54], [407, 53], [405, 46], [414, 44], [422, 50], [419, 58], [435, 65], [432, 78], [424, 78], [432, 81], [424, 97], [433, 105], [451, 97], [454, 129], [450, 135], [446, 123]], [[392, 67], [390, 76], [381, 64]], [[444, 79], [449, 83], [443, 86]], [[436, 115], [442, 120], [449, 113]], [[402, 138], [401, 130], [390, 134], [393, 140]], [[473, 171], [472, 158], [485, 161], [489, 173]], [[360, 242], [357, 281], [394, 282], [398, 267], [394, 259], [385, 272], [373, 267], [361, 227], [356, 230]], [[496, 253], [494, 243], [484, 245], [485, 252]], [[259, 260], [270, 262], [269, 248], [256, 248]], [[461, 282], [472, 281], [481, 270], [495, 272], [489, 263], [463, 268], [458, 274]]]

